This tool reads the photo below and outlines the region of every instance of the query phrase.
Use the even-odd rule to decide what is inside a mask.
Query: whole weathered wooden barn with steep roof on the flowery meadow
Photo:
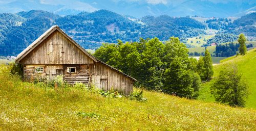
[[[62,75],[70,84],[94,84],[103,90],[133,92],[133,77],[96,59],[63,32],[51,27],[20,53],[16,60],[24,66],[24,79],[52,79]]]

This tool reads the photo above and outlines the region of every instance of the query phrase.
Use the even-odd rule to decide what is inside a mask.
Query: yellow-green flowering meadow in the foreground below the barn
[[[147,101],[22,82],[0,66],[0,130],[255,130],[256,110],[144,91]],[[140,90],[135,89],[135,92]]]

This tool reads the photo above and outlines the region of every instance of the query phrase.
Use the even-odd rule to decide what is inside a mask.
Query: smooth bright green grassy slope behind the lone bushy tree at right
[[[246,106],[248,108],[256,109],[256,48],[247,51],[245,56],[233,56],[221,60],[221,64],[214,66],[214,77],[218,76],[221,66],[224,66],[227,63],[238,64],[238,69],[243,74],[249,86],[249,96]],[[199,96],[200,100],[214,101],[214,98],[210,95],[210,84],[211,82],[203,84],[203,88],[201,89]]]

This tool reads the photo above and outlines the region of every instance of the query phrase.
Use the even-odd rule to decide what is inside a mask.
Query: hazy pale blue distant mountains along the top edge
[[[20,11],[46,10],[55,14],[76,15],[82,11],[94,12],[106,9],[118,14],[141,18],[146,15],[160,16],[204,16],[229,17],[242,16],[256,11],[256,1],[213,1],[213,0],[180,0],[180,1],[124,1],[124,0],[64,0],[64,1],[29,1],[19,0],[1,2],[0,13],[17,13]]]

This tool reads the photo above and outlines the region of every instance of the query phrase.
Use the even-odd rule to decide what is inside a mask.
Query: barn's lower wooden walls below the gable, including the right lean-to
[[[76,82],[88,84],[92,82],[96,87],[103,90],[114,89],[126,95],[133,92],[133,80],[131,78],[102,63],[45,65],[43,73],[35,73],[36,66],[38,65],[26,65],[24,67],[26,80],[33,81],[35,78],[39,79],[40,77],[48,77],[51,80],[58,75],[57,69],[62,69],[64,71],[63,80],[70,84],[75,84]],[[76,73],[67,73],[67,67],[76,67]]]

